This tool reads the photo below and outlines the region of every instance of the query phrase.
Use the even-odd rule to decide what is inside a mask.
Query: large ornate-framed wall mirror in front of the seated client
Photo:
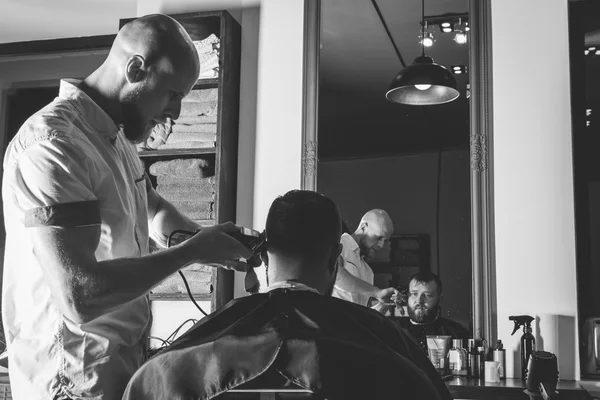
[[[441,315],[492,343],[489,2],[306,4],[304,188],[333,198],[351,231],[385,209],[394,235],[368,260],[376,285],[407,287],[432,271]],[[433,39],[425,54],[451,71],[459,97],[390,102],[392,79],[422,55],[423,31]]]

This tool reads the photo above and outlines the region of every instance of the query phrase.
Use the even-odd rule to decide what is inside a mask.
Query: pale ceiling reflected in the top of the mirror
[[[394,42],[408,65],[420,55],[420,0],[376,0]],[[364,94],[385,93],[402,69],[371,0],[322,0],[320,82],[325,88]],[[426,0],[425,15],[467,13],[469,0]],[[446,67],[468,65],[468,45],[436,28],[436,42],[426,54]],[[464,91],[466,79],[459,77]]]

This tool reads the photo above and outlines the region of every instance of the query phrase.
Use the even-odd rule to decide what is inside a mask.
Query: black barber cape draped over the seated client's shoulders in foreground
[[[417,344],[381,314],[275,289],[199,321],[135,373],[123,399],[212,399],[265,376],[328,400],[452,398]]]

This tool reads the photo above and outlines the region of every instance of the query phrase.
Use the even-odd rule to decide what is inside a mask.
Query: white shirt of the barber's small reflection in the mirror
[[[341,258],[343,260],[343,264],[340,268],[345,268],[350,274],[372,285],[374,281],[373,270],[361,256],[358,243],[356,243],[354,238],[347,233],[342,235],[340,242],[342,243]],[[351,301],[363,306],[366,306],[369,302],[369,296],[342,290],[337,286],[337,283],[334,286],[331,295],[338,299]]]

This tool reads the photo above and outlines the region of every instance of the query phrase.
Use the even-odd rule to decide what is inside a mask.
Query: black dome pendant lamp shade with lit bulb
[[[458,98],[456,79],[431,57],[417,57],[394,78],[385,94],[394,103],[429,106],[449,103]]]

